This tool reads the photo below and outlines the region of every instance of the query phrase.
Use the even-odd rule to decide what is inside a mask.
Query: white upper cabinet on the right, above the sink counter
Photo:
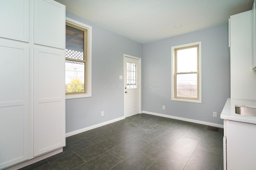
[[[256,100],[256,72],[252,70],[252,12],[230,16],[231,98]]]

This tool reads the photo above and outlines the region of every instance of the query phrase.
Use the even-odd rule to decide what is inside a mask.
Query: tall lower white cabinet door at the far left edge
[[[0,39],[0,169],[28,159],[29,47]]]

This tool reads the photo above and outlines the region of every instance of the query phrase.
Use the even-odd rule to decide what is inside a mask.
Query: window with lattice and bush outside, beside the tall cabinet
[[[66,18],[66,99],[91,96],[92,27]]]

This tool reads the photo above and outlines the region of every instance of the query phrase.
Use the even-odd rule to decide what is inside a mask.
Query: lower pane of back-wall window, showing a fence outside
[[[197,98],[197,73],[176,75],[177,97]]]

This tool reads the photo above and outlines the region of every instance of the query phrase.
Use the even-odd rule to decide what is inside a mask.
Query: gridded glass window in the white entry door
[[[137,64],[127,63],[127,89],[136,89],[137,82]]]

